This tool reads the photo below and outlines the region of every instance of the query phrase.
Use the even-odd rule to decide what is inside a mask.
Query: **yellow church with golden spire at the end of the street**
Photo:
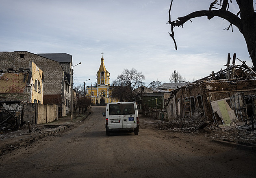
[[[105,68],[103,54],[100,61],[100,68],[96,74],[97,85],[91,85],[91,87],[87,86],[86,95],[91,97],[91,102],[93,105],[103,105],[105,103],[118,102],[117,99],[111,97],[111,91],[109,90],[110,73]]]

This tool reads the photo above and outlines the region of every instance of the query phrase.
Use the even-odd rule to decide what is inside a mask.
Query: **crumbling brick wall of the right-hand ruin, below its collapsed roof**
[[[201,83],[195,83],[193,85],[188,85],[180,89],[175,90],[175,103],[176,103],[176,113],[180,107],[180,117],[189,117],[192,119],[201,119],[203,116],[207,118],[208,121],[214,121],[213,109],[210,102],[222,100],[225,98],[230,98],[232,95],[235,96],[236,93],[242,93],[243,97],[255,96],[256,95],[256,80],[243,80],[243,81],[228,81],[228,80],[216,80],[216,81],[202,81]],[[249,106],[245,108],[244,101],[241,97],[234,99],[236,103],[241,101],[239,106],[243,105],[243,108],[237,112],[235,110],[236,117],[239,119],[245,118],[248,114],[245,114],[246,110],[249,110]],[[256,100],[256,98],[254,98]],[[169,105],[173,102],[169,102]],[[234,106],[234,103],[228,102],[230,108],[238,109],[238,106]],[[253,104],[250,105],[254,108]],[[168,106],[170,107],[170,106]],[[237,113],[236,113],[237,112]],[[248,112],[248,111],[246,111]],[[178,115],[178,114],[177,114]],[[242,117],[240,116],[242,115]],[[168,117],[170,116],[170,111],[168,111]]]

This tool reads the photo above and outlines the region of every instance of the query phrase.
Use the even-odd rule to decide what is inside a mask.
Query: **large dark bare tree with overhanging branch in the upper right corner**
[[[233,14],[229,9],[229,0],[214,0],[208,10],[195,11],[190,13],[189,15],[178,17],[177,20],[171,21],[171,6],[173,0],[171,0],[171,5],[169,8],[169,21],[168,23],[171,25],[171,33],[169,35],[174,40],[175,49],[177,50],[177,44],[174,39],[174,27],[182,26],[188,20],[195,17],[207,16],[210,20],[213,17],[221,17],[228,22],[230,25],[228,28],[224,30],[229,30],[230,27],[233,31],[233,26],[235,25],[243,37],[245,38],[245,42],[247,44],[247,50],[249,52],[250,58],[252,59],[252,64],[254,65],[254,70],[256,68],[256,13],[254,12],[253,0],[236,0],[236,3],[239,6],[239,12],[237,14]],[[232,3],[232,0],[230,0]],[[216,7],[218,6],[218,7]]]

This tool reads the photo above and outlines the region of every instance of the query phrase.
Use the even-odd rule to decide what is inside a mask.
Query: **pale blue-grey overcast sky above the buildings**
[[[178,51],[167,25],[171,0],[0,0],[0,51],[68,53],[74,84],[95,83],[100,59],[111,82],[124,68],[135,68],[152,81],[169,82],[174,70],[187,81],[217,72],[228,53],[252,66],[239,30],[223,30],[219,17],[192,19],[174,28]],[[174,0],[171,20],[207,10],[213,0]],[[255,4],[255,3],[254,3]],[[230,11],[239,11],[235,1]],[[241,62],[236,61],[236,64]]]

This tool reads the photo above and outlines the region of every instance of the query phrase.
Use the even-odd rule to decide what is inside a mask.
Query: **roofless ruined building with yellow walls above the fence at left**
[[[0,71],[0,101],[43,104],[43,71],[29,61],[29,68]]]

